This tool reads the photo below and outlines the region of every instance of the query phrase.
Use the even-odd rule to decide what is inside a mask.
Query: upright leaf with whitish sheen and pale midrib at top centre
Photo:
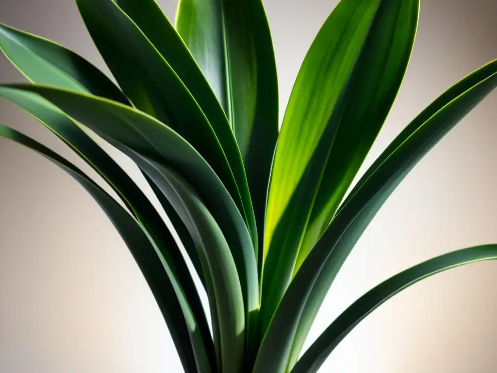
[[[180,0],[176,29],[232,124],[247,171],[261,251],[278,136],[276,64],[262,1]]]

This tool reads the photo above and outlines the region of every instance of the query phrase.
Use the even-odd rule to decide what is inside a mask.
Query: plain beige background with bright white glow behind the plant
[[[175,1],[160,0],[169,17]],[[298,67],[336,4],[265,0],[281,110]],[[74,1],[1,0],[0,21],[56,40],[104,69]],[[431,100],[497,58],[497,1],[423,0],[413,58],[366,164]],[[0,81],[22,81],[0,58]],[[3,124],[88,170],[4,102]],[[414,169],[358,243],[310,341],[351,301],[419,261],[497,242],[497,92]],[[181,372],[139,270],[93,200],[55,166],[0,140],[0,372]],[[93,175],[92,173],[90,173]],[[337,348],[323,372],[497,372],[497,263],[414,285]],[[309,341],[309,342],[310,342]]]

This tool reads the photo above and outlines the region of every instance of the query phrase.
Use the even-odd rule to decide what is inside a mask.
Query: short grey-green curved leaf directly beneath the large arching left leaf
[[[218,369],[227,373],[241,371],[245,347],[245,310],[242,287],[228,243],[195,191],[173,170],[136,155],[137,164],[161,189],[188,228],[207,281],[213,325],[219,328]]]

